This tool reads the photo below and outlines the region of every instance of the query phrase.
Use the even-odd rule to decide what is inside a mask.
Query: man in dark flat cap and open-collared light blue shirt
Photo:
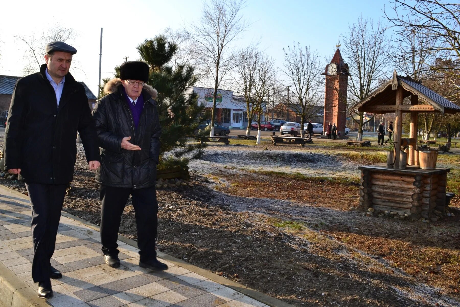
[[[40,72],[16,83],[5,130],[5,169],[25,182],[32,205],[32,279],[44,298],[53,295],[50,278],[62,277],[50,259],[65,190],[74,174],[77,131],[89,169],[100,165],[85,88],[69,74],[76,52],[62,41],[46,45]]]

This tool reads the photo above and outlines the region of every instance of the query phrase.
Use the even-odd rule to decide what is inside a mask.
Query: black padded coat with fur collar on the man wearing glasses
[[[161,136],[156,90],[148,85],[142,89],[144,109],[137,129],[121,80],[110,80],[104,91],[108,95],[101,98],[93,110],[99,147],[102,148],[102,163],[96,171],[96,181],[103,185],[133,189],[155,185]],[[121,140],[129,136],[129,141],[138,145],[140,151],[121,148]]]

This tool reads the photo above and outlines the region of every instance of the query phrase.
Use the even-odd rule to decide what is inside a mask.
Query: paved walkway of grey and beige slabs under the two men
[[[4,265],[2,267],[13,272],[33,290],[37,290],[38,284],[32,281],[30,272],[33,258],[30,214],[27,198],[0,186],[0,261]],[[98,230],[78,219],[61,216],[56,251],[51,264],[63,273],[63,278],[52,279],[54,297],[47,302],[54,307],[268,306],[193,272],[195,266],[184,265],[188,267],[185,268],[179,265],[180,261],[163,260],[169,266],[167,271],[150,272],[138,266],[139,255],[135,246],[122,241],[118,244],[121,251],[121,267],[115,269],[104,263]],[[0,277],[1,275],[6,274],[0,274]],[[242,286],[242,289],[244,288],[246,287]],[[28,293],[30,294],[30,291]],[[277,300],[266,295],[259,295],[274,300],[275,303],[270,303],[271,306],[287,306],[281,301],[278,301],[281,304],[276,304]],[[14,304],[9,306],[12,305]]]

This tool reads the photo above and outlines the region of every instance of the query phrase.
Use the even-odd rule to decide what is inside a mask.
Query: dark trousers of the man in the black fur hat
[[[100,185],[101,197],[101,243],[104,255],[118,255],[118,228],[121,214],[131,195],[136,213],[140,261],[155,259],[155,238],[158,224],[158,203],[155,187],[133,190]]]

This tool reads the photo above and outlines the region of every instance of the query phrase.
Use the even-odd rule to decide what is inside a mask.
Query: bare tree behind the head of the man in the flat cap
[[[24,67],[24,73],[32,74],[40,70],[40,66],[43,64],[43,57],[46,54],[46,44],[51,41],[74,41],[76,36],[74,29],[64,28],[59,23],[44,30],[40,35],[35,33],[31,35],[16,35],[15,37],[26,46],[24,59],[27,61],[27,64]]]

